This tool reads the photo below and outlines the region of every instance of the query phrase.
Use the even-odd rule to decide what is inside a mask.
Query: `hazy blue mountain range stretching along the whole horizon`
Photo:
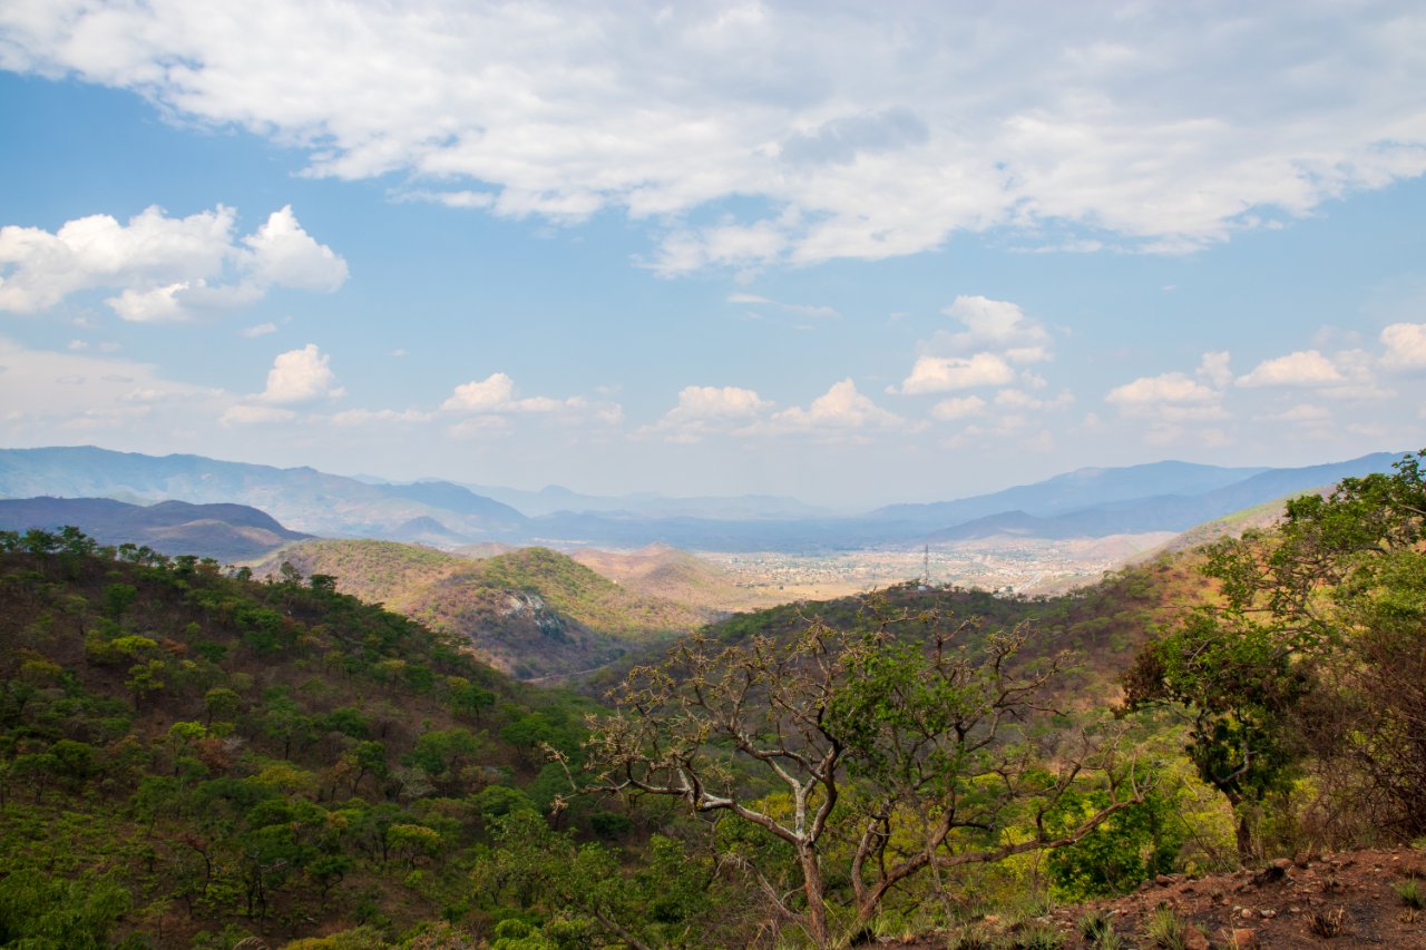
[[[235,502],[314,535],[385,538],[451,549],[472,543],[565,548],[667,543],[694,551],[817,551],[961,543],[994,536],[1060,539],[1176,532],[1345,476],[1387,471],[1397,458],[1380,452],[1302,468],[1221,468],[1172,461],[1087,468],[958,501],[830,516],[780,498],[612,499],[559,488],[482,489],[501,492],[509,501],[523,499],[529,511],[522,512],[455,482],[388,484],[311,468],[281,469],[197,455],[158,458],[84,446],[0,449],[0,496]],[[576,509],[566,504],[590,506]],[[550,511],[555,506],[559,509]]]

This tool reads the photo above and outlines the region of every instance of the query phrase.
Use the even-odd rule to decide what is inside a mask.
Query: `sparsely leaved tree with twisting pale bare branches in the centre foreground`
[[[907,626],[918,635],[893,636]],[[1038,729],[1064,658],[1021,666],[1024,629],[971,632],[901,615],[860,633],[813,619],[784,642],[690,638],[666,662],[629,673],[612,693],[616,715],[592,719],[595,785],[679,797],[786,842],[800,907],[796,890],[779,894],[749,870],[813,943],[840,946],[923,872],[1070,844],[1144,799],[1122,732]],[[1065,793],[1091,787],[1108,793],[1108,806],[1054,833],[1062,826],[1047,817]],[[837,869],[850,889],[826,884],[831,853],[850,854]],[[829,906],[846,909],[850,929],[833,933]]]

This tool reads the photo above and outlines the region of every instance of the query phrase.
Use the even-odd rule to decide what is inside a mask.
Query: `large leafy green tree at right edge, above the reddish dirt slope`
[[[1349,766],[1373,823],[1426,832],[1423,458],[1211,545],[1204,571],[1222,602],[1181,618],[1125,675],[1131,706],[1188,708],[1189,756],[1238,810],[1245,860],[1251,813],[1309,759]]]

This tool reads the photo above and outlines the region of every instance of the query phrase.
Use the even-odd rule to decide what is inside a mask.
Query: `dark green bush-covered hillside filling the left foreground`
[[[472,863],[553,802],[536,745],[578,753],[583,700],[322,579],[44,538],[0,545],[0,944],[479,926]]]

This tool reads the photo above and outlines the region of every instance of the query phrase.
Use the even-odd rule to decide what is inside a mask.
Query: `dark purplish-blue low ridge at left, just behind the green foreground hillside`
[[[83,528],[103,545],[130,542],[160,553],[224,562],[261,558],[279,545],[311,538],[248,505],[165,501],[143,506],[110,498],[43,496],[0,501],[0,531],[54,531],[64,525]]]

